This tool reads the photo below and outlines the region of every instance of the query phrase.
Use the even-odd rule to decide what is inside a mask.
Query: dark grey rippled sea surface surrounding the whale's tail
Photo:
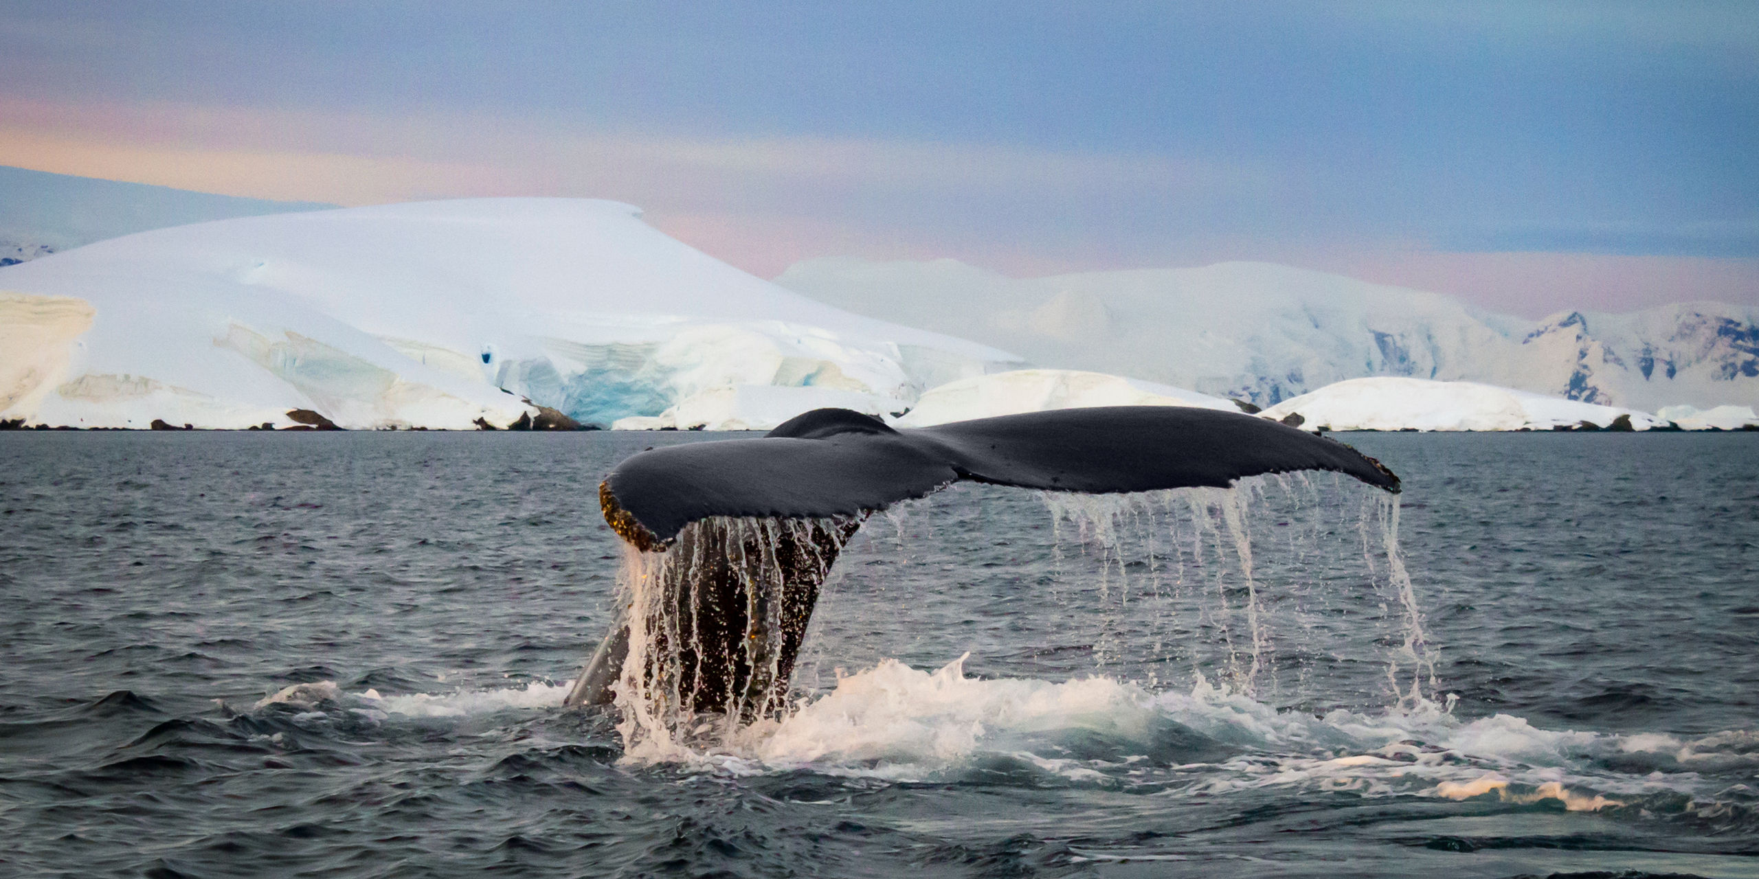
[[[0,874],[1759,875],[1755,434],[955,487],[668,751],[561,700],[598,480],[700,440],[0,434]]]

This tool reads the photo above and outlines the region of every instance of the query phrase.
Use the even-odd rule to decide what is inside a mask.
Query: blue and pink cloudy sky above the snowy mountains
[[[1270,260],[1759,304],[1759,4],[16,2],[0,163],[600,197],[776,276]]]

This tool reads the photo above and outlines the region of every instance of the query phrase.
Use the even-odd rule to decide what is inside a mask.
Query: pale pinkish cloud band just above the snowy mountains
[[[772,278],[830,255],[952,257],[1013,276],[1266,260],[1458,295],[1493,311],[1759,304],[1759,260],[1594,253],[1446,253],[1409,241],[1279,243],[1094,232],[1082,211],[1179,206],[1274,186],[1252,165],[1010,146],[821,137],[690,139],[580,132],[529,120],[383,118],[183,104],[42,104],[0,97],[0,163],[250,195],[375,204],[477,195],[616,199],[658,229]],[[1010,200],[1018,197],[1018,200]],[[1003,222],[941,216],[989,199]],[[1011,211],[1011,213],[1010,213]],[[1073,211],[1052,218],[1033,211]],[[1027,216],[1027,220],[1020,220]],[[994,218],[992,218],[994,220]],[[1017,232],[1029,232],[1031,239]],[[1115,229],[1115,227],[1113,227]],[[1342,232],[1340,232],[1342,234]]]

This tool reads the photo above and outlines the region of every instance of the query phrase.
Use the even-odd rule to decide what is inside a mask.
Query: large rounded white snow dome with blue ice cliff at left
[[[220,220],[0,269],[0,417],[74,427],[493,425],[904,411],[1018,359],[792,294],[626,204],[471,199]],[[783,415],[783,417],[786,417]],[[734,424],[707,424],[709,427]],[[695,424],[679,424],[691,427]]]

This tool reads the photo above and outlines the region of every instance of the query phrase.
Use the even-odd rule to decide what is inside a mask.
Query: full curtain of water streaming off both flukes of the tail
[[[966,652],[982,677],[1224,686],[1303,710],[1434,694],[1397,498],[1332,475],[1117,496],[955,485],[850,541],[855,524],[711,519],[663,554],[626,552],[631,758],[734,747],[741,723],[846,673]],[[704,693],[726,710],[700,712]]]

